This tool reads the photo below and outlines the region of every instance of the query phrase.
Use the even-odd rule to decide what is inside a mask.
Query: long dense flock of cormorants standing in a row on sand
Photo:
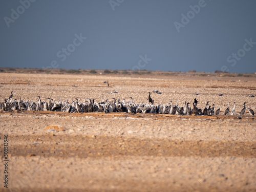
[[[126,102],[125,99],[120,101],[120,99],[113,98],[113,101],[109,99],[102,100],[101,102],[96,102],[94,99],[84,99],[84,102],[79,102],[78,98],[73,100],[70,103],[68,100],[61,101],[59,98],[58,101],[54,101],[51,98],[47,98],[49,101],[41,100],[38,96],[37,102],[23,101],[21,97],[19,99],[13,98],[13,92],[9,99],[5,99],[4,102],[1,102],[0,96],[0,110],[3,111],[57,111],[57,112],[69,112],[69,113],[88,113],[88,112],[103,112],[103,113],[112,113],[112,112],[126,112],[126,113],[154,113],[154,114],[172,114],[172,115],[219,115],[220,108],[215,110],[215,104],[209,105],[209,101],[206,103],[204,110],[198,109],[198,101],[195,98],[193,106],[189,106],[189,102],[185,101],[183,106],[177,104],[174,105],[173,101],[168,102],[167,104],[156,104],[154,105],[154,100],[151,98],[151,92],[148,92],[148,99],[146,103],[136,103],[133,98]],[[245,106],[241,110],[240,115],[244,115],[245,111],[248,110],[250,115],[254,115],[254,111]],[[225,110],[224,115],[236,115],[236,102],[234,102],[233,109],[230,112],[230,106],[228,103],[228,108]]]

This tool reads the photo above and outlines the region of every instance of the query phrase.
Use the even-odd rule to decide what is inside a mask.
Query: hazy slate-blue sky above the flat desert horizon
[[[255,10],[255,0],[1,1],[0,67],[254,73]]]

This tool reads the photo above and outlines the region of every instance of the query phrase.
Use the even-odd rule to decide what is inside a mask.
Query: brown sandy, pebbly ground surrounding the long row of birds
[[[139,103],[159,90],[162,95],[152,94],[156,103],[181,106],[197,98],[199,108],[210,101],[222,110],[207,117],[2,112],[0,176],[8,134],[9,190],[1,182],[0,191],[256,191],[256,121],[248,113],[223,116],[233,101],[237,112],[243,102],[256,111],[256,98],[249,97],[256,95],[255,78],[1,73],[0,83],[1,101],[14,91],[30,101],[40,95]],[[55,124],[66,131],[45,130]]]

